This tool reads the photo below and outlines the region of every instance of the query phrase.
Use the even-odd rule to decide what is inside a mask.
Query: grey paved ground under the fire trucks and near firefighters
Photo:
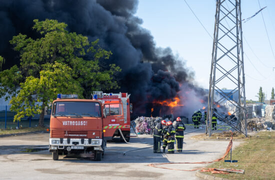
[[[186,132],[193,130],[187,128]],[[146,143],[107,143],[102,161],[87,158],[59,156],[53,161],[48,152],[48,133],[29,134],[0,138],[0,179],[200,179],[195,171],[168,170],[149,167],[156,162],[198,162],[211,161],[223,155],[228,141],[192,140],[189,137],[204,130],[185,135],[183,151],[175,154],[152,153],[146,148],[126,153],[138,147],[151,146],[150,135],[140,135]],[[130,142],[139,142],[131,138]],[[233,141],[233,146],[240,142]],[[36,152],[27,152],[37,149]],[[168,164],[171,168],[193,169],[205,164]]]

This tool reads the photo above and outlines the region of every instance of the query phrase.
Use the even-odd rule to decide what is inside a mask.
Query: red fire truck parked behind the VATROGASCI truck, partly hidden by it
[[[103,93],[93,91],[94,95],[102,102],[106,118],[103,118],[104,139],[111,140],[119,136],[123,141],[118,129],[120,128],[126,141],[130,140],[130,113],[132,104],[129,103],[130,94],[127,93]]]

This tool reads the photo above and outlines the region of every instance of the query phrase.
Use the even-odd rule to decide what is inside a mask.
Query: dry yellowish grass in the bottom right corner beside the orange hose
[[[238,160],[238,162],[219,161],[207,167],[244,169],[244,174],[211,174],[217,177],[229,179],[275,179],[274,142],[274,131],[260,131],[256,135],[250,136],[232,151],[232,160]],[[230,159],[230,156],[227,159]],[[204,173],[210,174],[210,172]]]

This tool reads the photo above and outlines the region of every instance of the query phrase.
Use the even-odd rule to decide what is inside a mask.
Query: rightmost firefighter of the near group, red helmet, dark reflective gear
[[[183,130],[185,129],[184,124],[181,122],[181,118],[177,117],[176,118],[176,123],[175,123],[175,143],[176,143],[176,151],[177,152],[182,152],[182,146],[183,146]]]

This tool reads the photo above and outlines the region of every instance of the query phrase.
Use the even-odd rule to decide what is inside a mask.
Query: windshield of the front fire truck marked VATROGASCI
[[[101,110],[98,102],[62,101],[53,103],[52,115],[100,117]]]

